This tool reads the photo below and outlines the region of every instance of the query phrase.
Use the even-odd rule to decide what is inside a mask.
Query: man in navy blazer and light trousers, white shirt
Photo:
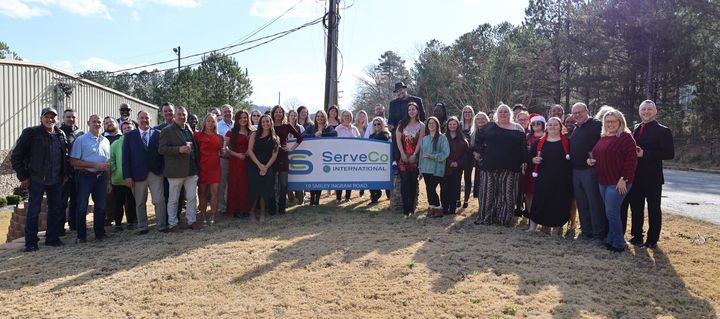
[[[155,223],[159,231],[167,231],[165,191],[163,190],[163,158],[158,153],[160,131],[150,127],[150,114],[138,112],[138,128],[123,139],[122,166],[125,186],[135,197],[138,234],[148,233],[147,193],[150,188],[155,206]]]

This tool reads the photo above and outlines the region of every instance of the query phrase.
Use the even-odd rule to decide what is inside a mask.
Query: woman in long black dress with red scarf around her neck
[[[530,208],[529,232],[542,225],[554,227],[555,233],[560,235],[562,226],[570,219],[572,165],[568,139],[561,133],[561,123],[557,117],[550,118],[545,135],[530,148],[535,196]]]

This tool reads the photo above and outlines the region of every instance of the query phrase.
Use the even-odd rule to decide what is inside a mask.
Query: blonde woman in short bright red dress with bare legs
[[[200,123],[200,130],[195,132],[194,135],[200,152],[198,173],[200,217],[204,223],[207,223],[207,190],[208,186],[210,186],[210,224],[214,224],[215,213],[217,213],[218,187],[220,185],[220,152],[223,149],[223,137],[217,133],[215,115],[205,115],[205,118]]]

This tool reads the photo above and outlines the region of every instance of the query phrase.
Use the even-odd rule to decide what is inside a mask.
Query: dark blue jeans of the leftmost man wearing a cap
[[[43,194],[47,193],[48,211],[47,211],[47,231],[45,232],[45,242],[59,242],[60,223],[62,216],[62,182],[53,185],[45,185],[36,181],[30,181],[28,190],[28,207],[25,212],[25,246],[37,245],[40,240],[38,238],[38,218],[40,217],[40,206],[42,205]]]

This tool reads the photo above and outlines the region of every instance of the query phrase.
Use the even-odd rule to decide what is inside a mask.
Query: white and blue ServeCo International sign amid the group
[[[390,142],[306,138],[289,154],[289,190],[391,189]]]

